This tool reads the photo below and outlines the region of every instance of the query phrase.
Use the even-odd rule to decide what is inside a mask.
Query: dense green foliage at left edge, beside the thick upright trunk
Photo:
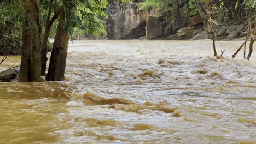
[[[0,55],[21,52],[21,5],[16,1],[0,3]]]

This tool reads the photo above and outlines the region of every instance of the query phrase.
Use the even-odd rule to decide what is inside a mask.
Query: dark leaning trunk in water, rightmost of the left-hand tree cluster
[[[50,65],[46,80],[62,81],[64,79],[69,35],[63,28],[65,22],[65,8],[60,10],[59,24],[54,39],[53,52],[51,53]]]

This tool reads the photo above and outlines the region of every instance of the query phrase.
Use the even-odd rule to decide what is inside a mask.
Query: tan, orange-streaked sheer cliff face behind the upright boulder
[[[146,24],[150,16],[158,19],[159,10],[140,11],[139,1],[133,1],[125,7],[120,7],[117,2],[110,3],[106,13],[107,39],[138,39],[146,35]],[[159,23],[157,20],[156,22]]]

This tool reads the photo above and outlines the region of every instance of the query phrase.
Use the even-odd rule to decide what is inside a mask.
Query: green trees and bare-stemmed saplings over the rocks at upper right
[[[184,10],[184,7],[186,10]],[[212,34],[213,39],[213,51],[214,56],[217,56],[216,51],[216,37],[217,35],[222,35],[226,31],[226,28],[223,28],[223,32],[218,33],[219,25],[224,25],[225,22],[228,21],[244,21],[245,19],[248,20],[248,35],[246,38],[246,41],[251,38],[251,43],[249,47],[249,53],[247,56],[247,59],[251,57],[252,50],[253,50],[253,43],[255,41],[254,38],[254,31],[255,31],[255,21],[256,21],[256,1],[254,0],[246,0],[246,1],[240,1],[240,0],[183,0],[183,1],[166,1],[166,0],[146,0],[142,3],[139,3],[139,8],[141,10],[150,10],[152,8],[161,8],[164,13],[167,13],[166,19],[170,19],[173,31],[179,32],[174,39],[177,37],[185,35],[188,33],[188,29],[193,29],[193,27],[183,27],[179,29],[175,29],[177,25],[176,19],[179,18],[178,16],[183,15],[199,15],[202,22],[203,22],[203,29],[205,29],[210,34]],[[168,15],[170,14],[170,15]],[[254,23],[254,26],[252,27],[251,23]],[[191,25],[190,25],[191,26]],[[234,38],[238,35],[237,31],[241,31],[243,29],[244,25],[240,25],[240,28],[236,28],[236,26],[231,27],[229,29],[236,29],[236,31],[230,30],[229,35],[227,38]],[[184,30],[186,29],[186,30]],[[234,30],[235,30],[234,29]],[[184,32],[187,31],[187,33],[184,34]],[[227,30],[228,31],[228,30]],[[194,33],[194,32],[193,32]],[[198,37],[198,36],[197,36]],[[173,38],[171,38],[173,39]],[[194,38],[193,38],[194,39]],[[246,41],[242,46],[245,46],[244,49],[244,58],[246,58]],[[241,46],[241,47],[242,47]],[[238,51],[234,54],[233,57],[241,50],[238,49]]]

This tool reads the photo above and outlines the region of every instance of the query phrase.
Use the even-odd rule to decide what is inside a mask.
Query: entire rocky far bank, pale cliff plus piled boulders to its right
[[[190,14],[188,3],[184,3],[176,14],[162,13],[161,9],[149,11],[139,10],[135,0],[125,7],[117,2],[110,3],[106,13],[106,39],[210,39],[212,34],[203,29],[203,22],[199,15]],[[243,37],[248,32],[248,25],[243,23],[246,19],[236,22],[229,21],[217,27],[217,39],[234,39]]]

